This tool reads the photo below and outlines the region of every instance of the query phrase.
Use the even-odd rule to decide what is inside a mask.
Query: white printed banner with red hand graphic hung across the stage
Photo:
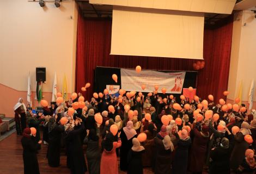
[[[153,92],[155,85],[159,86],[158,92],[166,88],[166,93],[181,94],[186,72],[159,72],[143,70],[121,69],[121,88],[126,91]],[[142,89],[145,85],[145,89]]]

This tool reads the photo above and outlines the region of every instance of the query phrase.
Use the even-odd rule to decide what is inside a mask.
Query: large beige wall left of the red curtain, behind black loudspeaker
[[[46,67],[43,96],[51,101],[54,72],[62,90],[64,74],[68,92],[75,89],[77,6],[66,0],[56,8],[46,2],[0,1],[0,113],[13,116],[17,98],[26,101],[28,73],[36,89],[35,67]],[[32,92],[33,104],[35,94]],[[26,102],[25,102],[26,103]]]

